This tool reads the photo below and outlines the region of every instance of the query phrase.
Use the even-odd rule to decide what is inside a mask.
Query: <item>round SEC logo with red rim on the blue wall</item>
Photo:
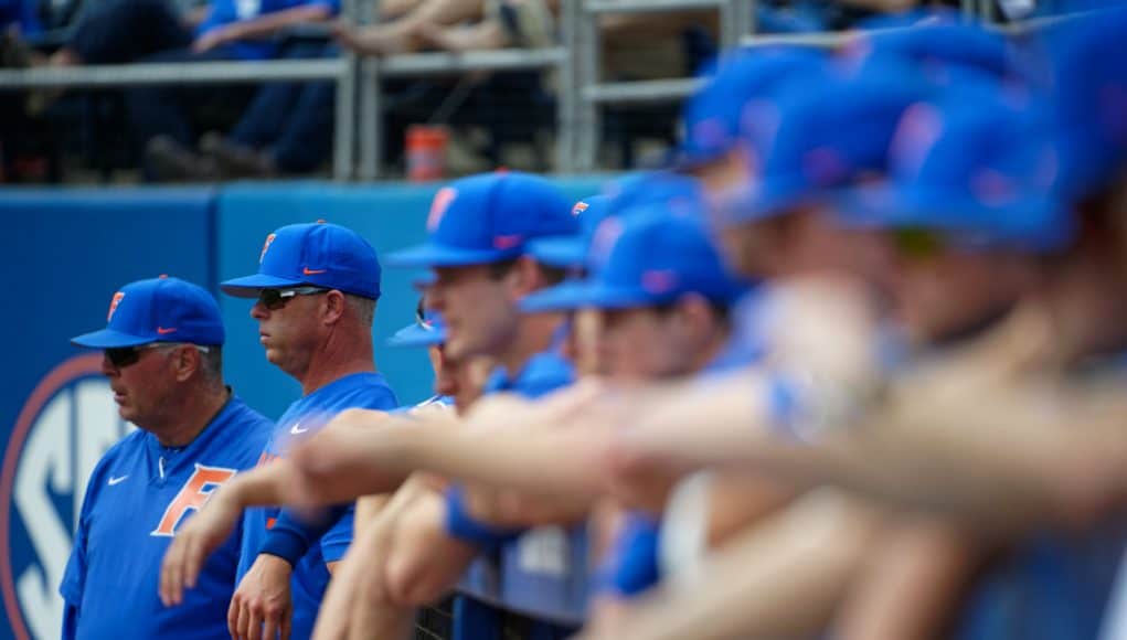
[[[59,595],[90,472],[132,430],[117,415],[101,354],[70,358],[32,391],[0,474],[0,587],[16,638],[57,638]]]

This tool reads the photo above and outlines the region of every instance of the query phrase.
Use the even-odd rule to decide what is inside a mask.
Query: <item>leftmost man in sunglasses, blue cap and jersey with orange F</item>
[[[223,338],[211,294],[161,276],[122,287],[108,326],[72,339],[104,350],[118,412],[140,430],[90,475],[60,586],[62,638],[227,635],[238,532],[221,541],[184,606],[165,608],[157,598],[161,558],[185,519],[252,468],[270,434],[269,420],[223,383]]]

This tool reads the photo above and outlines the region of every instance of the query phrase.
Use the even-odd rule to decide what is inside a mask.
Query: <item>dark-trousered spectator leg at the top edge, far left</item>
[[[117,64],[190,44],[192,32],[168,1],[109,0],[79,19],[74,36],[53,63]]]

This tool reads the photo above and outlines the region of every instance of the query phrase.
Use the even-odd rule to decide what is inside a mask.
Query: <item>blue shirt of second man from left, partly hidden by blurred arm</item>
[[[345,409],[391,410],[398,405],[396,394],[379,373],[355,373],[326,384],[294,401],[278,418],[277,428],[261,451],[260,464],[284,456],[293,437],[323,427]],[[239,579],[247,574],[259,552],[285,549],[296,554],[291,579],[293,594],[293,638],[308,638],[313,631],[317,611],[329,584],[327,562],[340,560],[353,536],[353,508],[334,512],[334,524],[307,524],[285,509],[258,507],[247,509],[242,524],[239,557]],[[320,535],[322,532],[323,535]],[[312,543],[311,543],[312,542]],[[293,558],[287,558],[293,559]]]

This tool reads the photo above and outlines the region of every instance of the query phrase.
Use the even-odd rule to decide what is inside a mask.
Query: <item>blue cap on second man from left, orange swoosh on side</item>
[[[228,295],[257,297],[263,288],[312,285],[380,297],[380,259],[367,240],[326,222],[290,224],[266,237],[258,273],[220,284]]]

